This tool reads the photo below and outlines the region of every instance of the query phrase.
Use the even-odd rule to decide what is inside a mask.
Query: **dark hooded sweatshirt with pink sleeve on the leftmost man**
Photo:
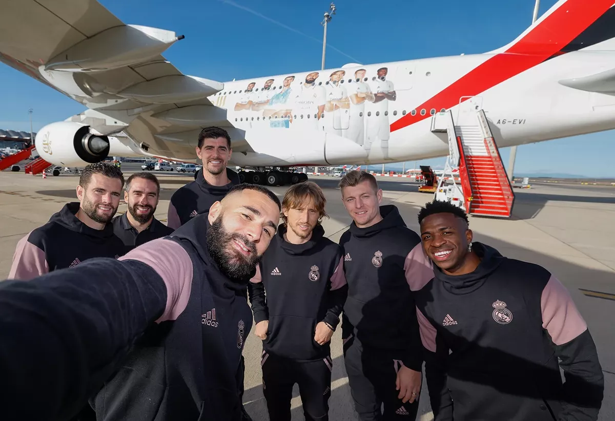
[[[23,237],[17,243],[9,278],[30,280],[87,259],[124,254],[124,243],[114,235],[113,224],[101,230],[90,228],[77,218],[78,210],[79,202],[66,203],[47,224]]]

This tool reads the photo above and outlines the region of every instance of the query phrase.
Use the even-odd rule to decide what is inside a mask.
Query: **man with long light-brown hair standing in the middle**
[[[284,220],[248,284],[255,334],[263,339],[263,393],[270,421],[290,421],[299,385],[305,419],[328,420],[330,340],[346,299],[339,245],[324,236],[320,187],[307,181],[282,200]]]

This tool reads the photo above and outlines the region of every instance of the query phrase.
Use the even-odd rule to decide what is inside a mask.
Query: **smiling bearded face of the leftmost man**
[[[85,186],[77,186],[77,198],[81,202],[81,210],[100,224],[106,224],[113,219],[119,207],[122,181],[102,174],[92,174],[90,182]]]

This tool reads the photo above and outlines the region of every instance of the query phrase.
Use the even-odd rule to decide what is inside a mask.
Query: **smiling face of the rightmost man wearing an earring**
[[[452,274],[466,261],[472,230],[466,221],[452,213],[434,213],[421,221],[421,240],[427,256],[440,269]]]

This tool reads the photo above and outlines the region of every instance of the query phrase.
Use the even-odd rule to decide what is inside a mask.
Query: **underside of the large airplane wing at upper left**
[[[208,100],[224,84],[185,75],[161,55],[183,36],[125,25],[96,0],[0,0],[0,10],[0,61],[88,108],[67,122],[125,133],[143,155],[194,160],[207,125],[227,128],[234,151],[251,151]]]

